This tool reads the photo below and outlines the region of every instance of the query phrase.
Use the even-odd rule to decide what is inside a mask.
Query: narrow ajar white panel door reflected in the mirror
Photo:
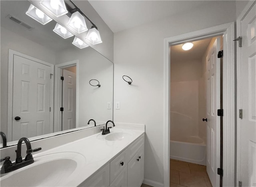
[[[63,70],[62,130],[76,128],[76,74]]]

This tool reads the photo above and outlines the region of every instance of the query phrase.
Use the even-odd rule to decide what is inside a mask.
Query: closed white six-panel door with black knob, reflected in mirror
[[[12,141],[50,133],[50,73],[50,66],[14,55]]]

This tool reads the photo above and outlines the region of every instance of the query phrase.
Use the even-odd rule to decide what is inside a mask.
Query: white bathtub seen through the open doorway
[[[170,158],[200,165],[206,165],[206,144],[197,136],[172,137]]]

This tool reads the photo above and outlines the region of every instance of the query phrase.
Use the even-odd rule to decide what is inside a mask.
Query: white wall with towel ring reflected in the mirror
[[[79,60],[76,69],[78,127],[87,125],[89,119],[94,119],[97,125],[112,120],[112,109],[107,109],[107,102],[111,102],[113,106],[114,64],[89,47],[82,50],[63,50],[57,53],[56,59],[56,64]],[[90,86],[89,81],[92,79],[100,82],[100,88]]]

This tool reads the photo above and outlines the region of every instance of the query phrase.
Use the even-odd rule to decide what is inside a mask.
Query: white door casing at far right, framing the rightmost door
[[[252,6],[256,4],[256,1],[249,1],[245,6],[244,10],[242,10],[241,14],[238,16],[236,20],[236,34],[237,36],[241,36],[242,28],[241,21],[245,18],[248,12],[251,10]],[[242,55],[241,48],[236,48],[236,77],[237,77],[237,86],[236,86],[236,181],[235,185],[238,186],[238,181],[241,181],[242,173],[242,119],[239,118],[239,109],[242,109]]]

